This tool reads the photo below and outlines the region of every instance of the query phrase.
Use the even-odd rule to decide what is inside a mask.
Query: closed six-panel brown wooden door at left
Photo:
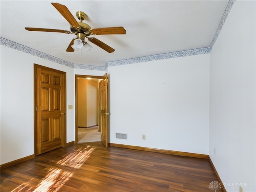
[[[36,66],[36,154],[65,146],[66,73]]]

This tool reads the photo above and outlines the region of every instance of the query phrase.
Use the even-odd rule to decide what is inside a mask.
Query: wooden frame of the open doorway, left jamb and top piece
[[[104,76],[93,76],[93,75],[75,75],[75,142],[74,143],[77,143],[78,142],[78,127],[77,127],[77,122],[78,122],[78,110],[77,110],[77,106],[78,106],[78,103],[77,103],[77,97],[78,97],[78,94],[77,94],[77,79],[78,78],[92,78],[92,79],[105,79]]]

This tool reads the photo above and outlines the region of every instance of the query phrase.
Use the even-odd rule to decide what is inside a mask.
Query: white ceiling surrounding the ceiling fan
[[[52,6],[52,1],[0,1],[0,36],[73,64],[105,66],[107,62],[209,47],[228,0],[164,1],[58,1],[76,18],[92,28],[123,26],[125,35],[95,38],[115,49],[108,53],[98,46],[88,52],[66,52],[74,34],[31,32],[24,27],[70,31],[70,24]]]

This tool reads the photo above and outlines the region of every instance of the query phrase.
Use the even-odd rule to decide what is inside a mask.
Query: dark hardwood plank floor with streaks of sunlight
[[[1,192],[212,192],[208,159],[72,144],[1,170]],[[218,190],[220,191],[220,190]]]

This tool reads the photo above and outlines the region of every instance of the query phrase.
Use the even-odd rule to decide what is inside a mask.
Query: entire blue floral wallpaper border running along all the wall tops
[[[45,54],[43,52],[34,50],[32,48],[26,47],[24,45],[18,44],[16,42],[12,42],[10,40],[4,39],[2,37],[0,37],[0,42],[1,42],[1,45],[3,45],[3,46],[13,48],[13,49],[16,49],[16,50],[19,50],[19,51],[22,51],[22,52],[28,53],[30,55],[46,59],[46,60],[49,60],[52,62],[55,62],[58,64],[62,64],[64,66],[68,66],[70,68],[85,69],[85,70],[99,70],[99,71],[105,71],[106,68],[108,68],[108,66],[118,66],[118,65],[125,65],[125,64],[139,63],[139,62],[148,62],[148,61],[153,61],[153,60],[163,60],[163,59],[169,59],[169,58],[207,54],[207,53],[210,53],[210,50],[214,46],[214,43],[216,42],[216,39],[218,38],[220,30],[222,29],[222,27],[226,21],[226,18],[228,17],[228,14],[229,14],[235,1],[236,0],[230,0],[228,2],[228,5],[227,5],[226,10],[222,16],[222,19],[220,21],[218,29],[214,35],[214,38],[212,39],[210,47],[198,48],[198,49],[186,50],[186,51],[179,51],[179,52],[172,52],[172,53],[165,53],[165,54],[158,54],[158,55],[152,55],[152,56],[145,56],[145,57],[140,57],[140,58],[132,58],[132,59],[126,59],[126,60],[120,60],[120,61],[112,61],[112,62],[107,62],[105,67],[73,64],[68,61],[56,58],[54,56]]]

